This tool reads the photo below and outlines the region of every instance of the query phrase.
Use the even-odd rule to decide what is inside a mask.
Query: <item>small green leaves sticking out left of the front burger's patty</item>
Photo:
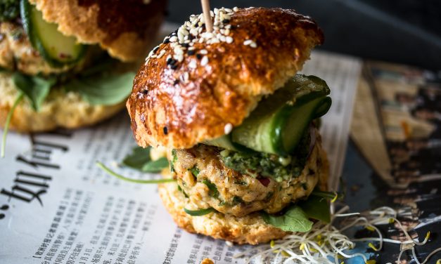
[[[131,154],[128,154],[122,160],[122,164],[132,169],[143,172],[160,172],[167,168],[168,160],[166,157],[152,161],[150,158],[151,147],[134,147]]]

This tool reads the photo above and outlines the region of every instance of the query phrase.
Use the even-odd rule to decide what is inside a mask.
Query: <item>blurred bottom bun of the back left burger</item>
[[[18,96],[11,73],[0,72],[0,95],[0,127],[4,127],[8,112]],[[9,128],[20,132],[39,132],[58,127],[89,126],[112,117],[124,107],[124,103],[90,105],[82,100],[79,93],[51,89],[39,112],[32,109],[26,98],[22,100],[15,108]]]

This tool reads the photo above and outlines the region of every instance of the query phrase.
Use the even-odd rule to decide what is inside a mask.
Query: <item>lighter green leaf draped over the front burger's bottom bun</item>
[[[307,232],[311,230],[313,224],[299,206],[290,206],[281,216],[262,213],[262,217],[265,223],[288,232]]]

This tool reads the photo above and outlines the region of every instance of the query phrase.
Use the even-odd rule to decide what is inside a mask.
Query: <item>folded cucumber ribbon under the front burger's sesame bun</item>
[[[329,93],[325,81],[298,74],[262,100],[250,117],[233,129],[231,140],[258,152],[290,154],[309,123],[328,112]]]

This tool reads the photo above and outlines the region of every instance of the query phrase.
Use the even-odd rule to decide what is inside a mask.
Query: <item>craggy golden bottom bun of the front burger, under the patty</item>
[[[328,159],[326,152],[320,151],[319,187],[326,190],[328,178]],[[168,176],[170,177],[170,176]],[[288,234],[279,228],[264,222],[259,212],[236,217],[224,213],[208,213],[205,216],[190,216],[184,207],[191,208],[190,199],[177,189],[176,183],[159,185],[159,194],[167,211],[175,223],[191,233],[207,235],[216,239],[225,239],[237,244],[260,244],[271,239],[279,239]],[[190,206],[189,206],[190,205]]]

